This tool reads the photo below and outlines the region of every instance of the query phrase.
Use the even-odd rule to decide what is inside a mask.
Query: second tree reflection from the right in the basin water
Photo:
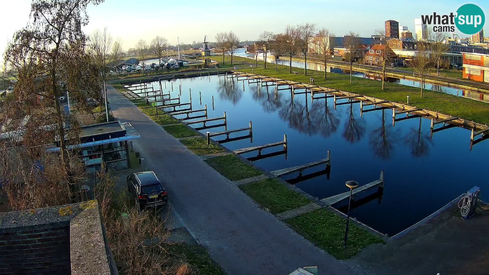
[[[370,145],[374,149],[374,155],[383,160],[391,158],[394,145],[398,142],[399,129],[391,125],[385,125],[385,112],[382,110],[382,124],[370,133]]]

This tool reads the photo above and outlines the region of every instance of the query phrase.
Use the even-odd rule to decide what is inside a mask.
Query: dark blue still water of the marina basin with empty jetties
[[[158,82],[148,84],[159,90]],[[178,97],[181,85],[182,103],[189,102],[191,89],[192,108],[202,109],[207,104],[209,118],[222,117],[226,112],[227,130],[248,127],[251,120],[252,142],[242,139],[223,143],[231,150],[281,141],[287,134],[287,155],[254,161],[267,171],[324,159],[330,150],[329,177],[324,173],[305,181],[295,180],[296,174],[284,177],[319,199],[348,191],[345,182],[349,180],[357,181],[360,186],[376,181],[383,169],[383,192],[373,188],[362,194],[355,201],[351,215],[390,236],[422,220],[474,185],[483,192],[489,187],[485,174],[481,173],[487,166],[481,160],[487,159],[489,141],[476,144],[469,151],[470,131],[466,129],[450,128],[430,138],[430,120],[426,118],[399,121],[393,127],[391,110],[360,116],[358,103],[340,105],[334,110],[332,98],[311,102],[310,94],[296,94],[292,99],[290,90],[279,91],[275,98],[273,86],[260,88],[258,84],[236,78],[225,81],[225,76],[174,79],[162,81],[161,85],[163,92],[169,92],[172,98]],[[220,123],[213,121],[207,125]],[[206,131],[220,132],[224,127],[200,132]],[[247,133],[230,137],[242,135]],[[279,150],[281,147],[265,149],[262,154]],[[256,152],[242,156],[254,157]],[[322,169],[311,168],[304,175]],[[333,207],[346,211],[345,201]]]

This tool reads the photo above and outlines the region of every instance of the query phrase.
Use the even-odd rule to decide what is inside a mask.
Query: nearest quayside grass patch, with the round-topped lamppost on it
[[[346,219],[332,213],[327,208],[299,215],[287,220],[286,223],[314,245],[339,260],[355,256],[356,253],[371,244],[384,243],[379,237],[350,223],[347,248],[343,248]]]

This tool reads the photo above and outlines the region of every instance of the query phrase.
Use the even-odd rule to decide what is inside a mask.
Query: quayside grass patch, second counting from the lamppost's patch
[[[311,203],[311,200],[284,186],[276,179],[239,185],[255,202],[273,214]]]

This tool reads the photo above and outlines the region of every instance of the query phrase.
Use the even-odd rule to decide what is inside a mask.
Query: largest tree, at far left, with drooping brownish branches
[[[34,1],[31,21],[5,49],[4,65],[17,72],[17,83],[0,104],[0,172],[15,209],[69,202],[70,184],[82,178],[71,146],[79,143],[81,128],[60,97],[69,92],[73,109],[87,113],[93,107],[86,98],[101,99],[100,67],[81,30],[90,3],[99,1]]]

